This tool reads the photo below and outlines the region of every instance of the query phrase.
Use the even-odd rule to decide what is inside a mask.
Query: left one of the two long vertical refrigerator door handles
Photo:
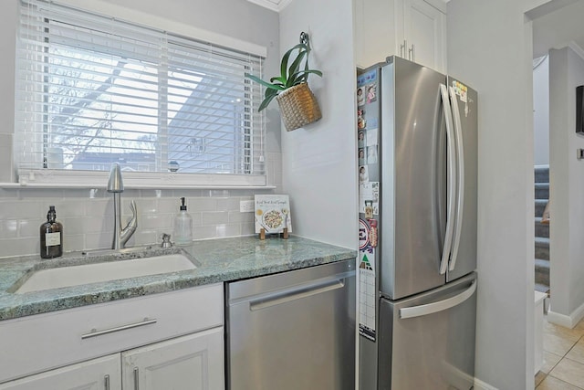
[[[440,260],[440,273],[443,275],[448,268],[448,259],[453,244],[454,236],[454,194],[456,192],[456,163],[455,163],[455,141],[454,125],[452,118],[452,109],[450,99],[448,98],[448,89],[445,85],[440,84],[440,95],[442,96],[444,119],[446,121],[446,140],[448,143],[448,192],[447,192],[447,214],[446,214],[446,234]]]

